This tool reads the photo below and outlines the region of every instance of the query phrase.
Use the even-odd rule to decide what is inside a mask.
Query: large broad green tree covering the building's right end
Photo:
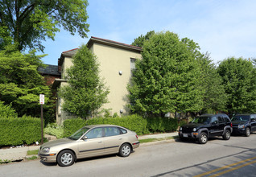
[[[152,35],[142,48],[142,60],[136,62],[127,87],[130,109],[158,116],[167,112],[199,111],[203,93],[198,86],[198,45],[167,31]]]

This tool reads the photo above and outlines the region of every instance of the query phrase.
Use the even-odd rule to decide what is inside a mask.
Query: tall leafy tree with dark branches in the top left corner
[[[89,24],[87,0],[2,0],[0,1],[0,27],[5,27],[19,51],[38,48],[43,51],[42,40],[53,39],[59,27],[72,35],[78,32],[87,37]],[[0,29],[1,33],[1,29]],[[5,34],[0,34],[0,41]]]

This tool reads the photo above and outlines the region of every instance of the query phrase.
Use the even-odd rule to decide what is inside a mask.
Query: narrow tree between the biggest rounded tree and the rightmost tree
[[[215,64],[210,60],[209,53],[199,59],[202,71],[202,88],[204,89],[204,108],[202,113],[225,111],[227,94],[221,76],[217,73]]]

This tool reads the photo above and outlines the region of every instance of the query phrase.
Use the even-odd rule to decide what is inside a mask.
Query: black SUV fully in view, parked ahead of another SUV
[[[226,114],[203,114],[195,117],[188,125],[181,126],[179,136],[182,140],[193,138],[205,144],[208,138],[215,136],[229,140],[232,130],[232,123]]]

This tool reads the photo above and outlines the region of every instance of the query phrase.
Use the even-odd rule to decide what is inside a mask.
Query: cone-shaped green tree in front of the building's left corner
[[[78,117],[94,116],[107,103],[109,93],[99,76],[97,56],[82,45],[72,63],[66,76],[68,85],[61,87],[58,92],[64,99],[62,109]]]

